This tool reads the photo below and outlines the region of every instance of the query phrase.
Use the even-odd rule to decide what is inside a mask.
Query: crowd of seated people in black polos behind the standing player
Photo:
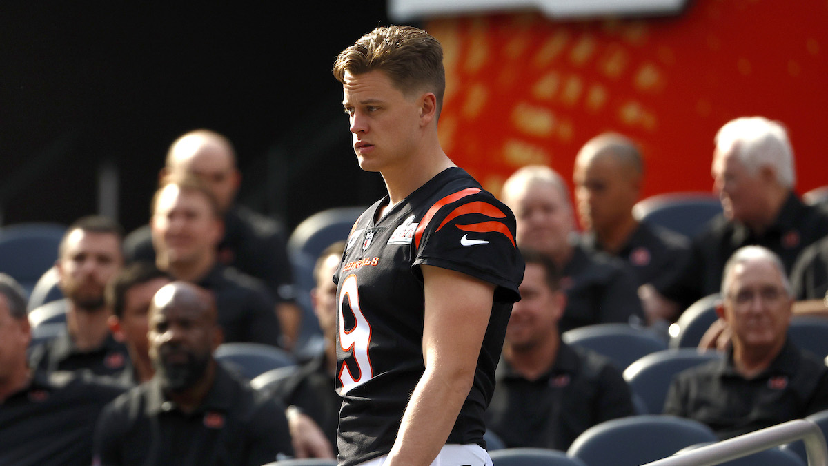
[[[621,371],[561,333],[603,323],[660,333],[712,293],[721,294],[719,319],[701,346],[724,357],[676,376],[664,413],[724,438],[828,409],[826,355],[787,339],[792,316],[828,316],[828,213],[794,192],[785,129],[758,117],[720,129],[712,173],[724,213],[692,238],[633,216],[643,161],[632,139],[603,133],[575,158],[575,192],[543,166],[503,185],[527,263],[486,413],[506,447],[566,450],[591,426],[639,412]],[[344,245],[321,252],[314,269],[322,352],[253,390],[213,353],[222,342],[295,349],[301,311],[285,234],[234,203],[240,175],[218,133],[176,139],[159,180],[148,225],[125,240],[101,216],[66,230],[56,262],[65,299],[46,304],[65,313],[65,332],[30,347],[25,296],[0,277],[0,347],[11,348],[0,351],[0,464],[335,457],[330,278]],[[38,444],[6,434],[60,425],[79,406],[88,409],[72,439],[65,430],[43,431]],[[60,454],[37,448],[69,441]]]

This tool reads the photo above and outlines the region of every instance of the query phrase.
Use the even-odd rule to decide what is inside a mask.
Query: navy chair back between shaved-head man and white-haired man
[[[657,194],[633,206],[633,216],[639,221],[663,226],[688,237],[696,235],[721,211],[719,198],[708,192]]]

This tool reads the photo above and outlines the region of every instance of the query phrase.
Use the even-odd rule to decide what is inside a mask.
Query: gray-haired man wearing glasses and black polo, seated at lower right
[[[787,337],[794,297],[777,255],[762,246],[736,250],[721,295],[716,313],[732,347],[676,376],[664,414],[698,420],[724,439],[828,409],[828,367]]]

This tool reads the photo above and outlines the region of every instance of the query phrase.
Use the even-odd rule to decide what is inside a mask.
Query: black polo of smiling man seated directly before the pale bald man
[[[282,332],[275,303],[258,279],[216,264],[198,285],[215,294],[225,342],[278,346]]]

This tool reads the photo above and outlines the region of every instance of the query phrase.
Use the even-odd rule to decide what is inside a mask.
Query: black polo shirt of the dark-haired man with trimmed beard
[[[127,347],[116,341],[112,333],[107,333],[101,346],[81,351],[67,330],[29,352],[29,366],[46,372],[89,370],[96,376],[116,376],[128,363]]]

